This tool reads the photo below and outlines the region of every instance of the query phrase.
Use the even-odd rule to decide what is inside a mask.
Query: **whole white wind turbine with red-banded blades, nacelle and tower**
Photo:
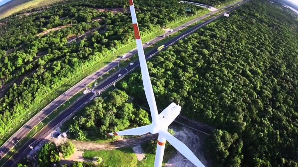
[[[166,144],[166,140],[172,144],[184,157],[186,157],[190,162],[192,162],[195,166],[204,166],[201,161],[193,154],[193,152],[181,141],[172,136],[167,130],[168,126],[175,120],[175,118],[180,114],[181,106],[176,105],[176,103],[171,103],[167,108],[165,108],[160,114],[157,112],[155,97],[153,93],[152,84],[150,81],[150,76],[148,72],[148,67],[146,63],[146,58],[144,54],[144,49],[142,46],[141,35],[139,32],[139,26],[136,19],[136,11],[134,9],[133,0],[129,0],[131,18],[134,27],[134,36],[136,38],[136,46],[139,54],[139,61],[142,73],[142,80],[144,85],[144,90],[146,94],[146,98],[148,101],[148,105],[150,107],[150,113],[152,117],[152,124],[146,125],[142,127],[136,127],[128,130],[123,130],[120,132],[108,133],[109,136],[136,136],[136,135],[144,135],[146,133],[156,134],[158,133],[158,141],[157,141],[157,149],[155,155],[155,167],[162,166],[162,159],[164,156],[164,147]]]

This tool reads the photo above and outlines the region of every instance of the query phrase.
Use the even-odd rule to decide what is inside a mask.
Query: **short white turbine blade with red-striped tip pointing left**
[[[108,133],[109,136],[136,136],[136,135],[144,135],[149,133],[151,125],[135,127],[128,130],[122,130],[120,132]]]

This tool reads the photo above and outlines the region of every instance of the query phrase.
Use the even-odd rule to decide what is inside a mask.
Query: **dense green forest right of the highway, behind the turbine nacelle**
[[[298,21],[250,1],[147,62],[157,106],[212,125],[215,166],[298,166]],[[140,72],[122,81],[146,105]]]

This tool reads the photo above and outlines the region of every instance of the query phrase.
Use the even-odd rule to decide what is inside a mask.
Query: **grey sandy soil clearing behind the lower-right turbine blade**
[[[208,166],[208,162],[203,156],[203,144],[206,136],[202,135],[202,133],[198,133],[196,131],[191,130],[187,127],[171,127],[176,133],[175,137],[186,144],[190,150],[199,158],[199,160],[205,165]],[[195,167],[193,163],[187,160],[183,155],[181,155],[178,151],[177,154],[172,157],[166,164],[166,167]]]

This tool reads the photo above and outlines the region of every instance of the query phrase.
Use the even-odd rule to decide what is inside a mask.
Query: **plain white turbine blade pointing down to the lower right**
[[[169,132],[159,132],[173,147],[175,147],[184,157],[186,157],[195,166],[203,167],[203,163],[195,156],[195,154],[180,140],[172,136]]]

